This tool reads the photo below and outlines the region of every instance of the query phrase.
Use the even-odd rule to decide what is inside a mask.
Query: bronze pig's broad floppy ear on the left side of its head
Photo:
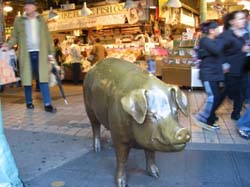
[[[147,114],[147,98],[145,89],[137,89],[121,99],[123,109],[139,124],[142,124]]]

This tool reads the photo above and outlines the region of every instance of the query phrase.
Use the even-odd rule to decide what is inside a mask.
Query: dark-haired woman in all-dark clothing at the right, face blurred
[[[242,32],[246,25],[246,17],[242,11],[234,11],[224,18],[224,32],[221,37],[225,42],[224,62],[230,64],[229,72],[225,74],[226,93],[233,100],[231,119],[238,120],[246,92],[246,75],[244,66],[246,53],[250,47],[245,44],[249,38]]]

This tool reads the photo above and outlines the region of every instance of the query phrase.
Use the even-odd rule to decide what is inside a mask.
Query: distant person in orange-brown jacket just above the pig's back
[[[96,62],[103,60],[107,55],[108,52],[105,47],[101,44],[99,38],[96,38],[95,44],[90,51],[90,56],[92,55],[91,65],[94,65]]]

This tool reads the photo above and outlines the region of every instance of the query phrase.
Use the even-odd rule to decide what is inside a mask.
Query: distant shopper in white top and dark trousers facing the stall
[[[70,56],[72,63],[72,79],[74,84],[77,85],[81,72],[81,49],[77,38],[74,39],[74,43],[70,46]]]

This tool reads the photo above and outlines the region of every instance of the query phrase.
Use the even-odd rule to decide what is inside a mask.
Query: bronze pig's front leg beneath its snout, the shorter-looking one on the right
[[[155,164],[155,152],[149,150],[144,151],[146,156],[146,170],[148,174],[156,178],[160,177],[160,171]]]

